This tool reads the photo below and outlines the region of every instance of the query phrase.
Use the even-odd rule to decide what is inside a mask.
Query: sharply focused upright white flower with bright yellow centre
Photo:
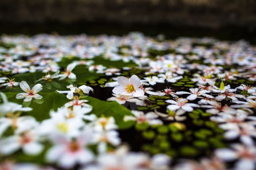
[[[118,86],[113,89],[113,93],[127,96],[141,97],[144,91],[140,89],[140,79],[136,75],[132,75],[130,81],[125,77],[117,79]]]

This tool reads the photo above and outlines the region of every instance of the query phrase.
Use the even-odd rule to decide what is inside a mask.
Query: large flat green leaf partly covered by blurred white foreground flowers
[[[23,99],[16,99],[15,96],[18,93],[15,92],[6,92],[5,93],[8,100],[22,104]],[[32,100],[29,107],[32,107],[33,110],[30,112],[24,113],[24,115],[31,115],[36,118],[38,121],[42,121],[44,119],[49,118],[49,111],[51,109],[57,110],[58,107],[62,107],[68,100],[65,94],[60,94],[58,92],[50,92],[50,93],[38,93],[43,96],[44,102],[42,104],[38,104]],[[84,99],[84,98],[82,98]],[[95,114],[98,117],[100,116],[113,116],[116,120],[116,124],[118,125],[119,129],[127,129],[133,125],[134,122],[124,122],[124,115],[132,115],[131,111],[126,107],[118,104],[116,101],[102,101],[90,96],[86,97],[86,100],[89,100],[88,104],[92,105],[93,109],[90,114]]]

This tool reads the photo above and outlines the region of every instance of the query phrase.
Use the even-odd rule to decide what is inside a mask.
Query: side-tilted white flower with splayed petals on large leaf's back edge
[[[81,85],[80,87],[75,87],[74,85],[68,85],[67,88],[70,89],[70,91],[58,91],[56,90],[56,92],[58,93],[62,93],[62,94],[65,94],[65,93],[68,93],[67,94],[67,98],[68,99],[72,99],[74,97],[74,94],[73,93],[80,93],[80,92],[83,92],[85,94],[88,94],[90,91],[93,92],[93,88],[92,87],[89,87],[89,86],[86,86],[86,85]]]

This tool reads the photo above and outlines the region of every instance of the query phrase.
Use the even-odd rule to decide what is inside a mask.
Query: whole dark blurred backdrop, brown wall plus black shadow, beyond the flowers
[[[0,34],[215,36],[256,44],[256,0],[0,0]]]

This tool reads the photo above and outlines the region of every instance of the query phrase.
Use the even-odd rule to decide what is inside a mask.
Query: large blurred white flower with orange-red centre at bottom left
[[[53,146],[46,153],[48,162],[57,162],[64,168],[71,168],[76,163],[86,164],[93,160],[93,153],[86,148],[92,140],[92,131],[87,129],[76,139],[69,139],[61,134],[50,137]]]

